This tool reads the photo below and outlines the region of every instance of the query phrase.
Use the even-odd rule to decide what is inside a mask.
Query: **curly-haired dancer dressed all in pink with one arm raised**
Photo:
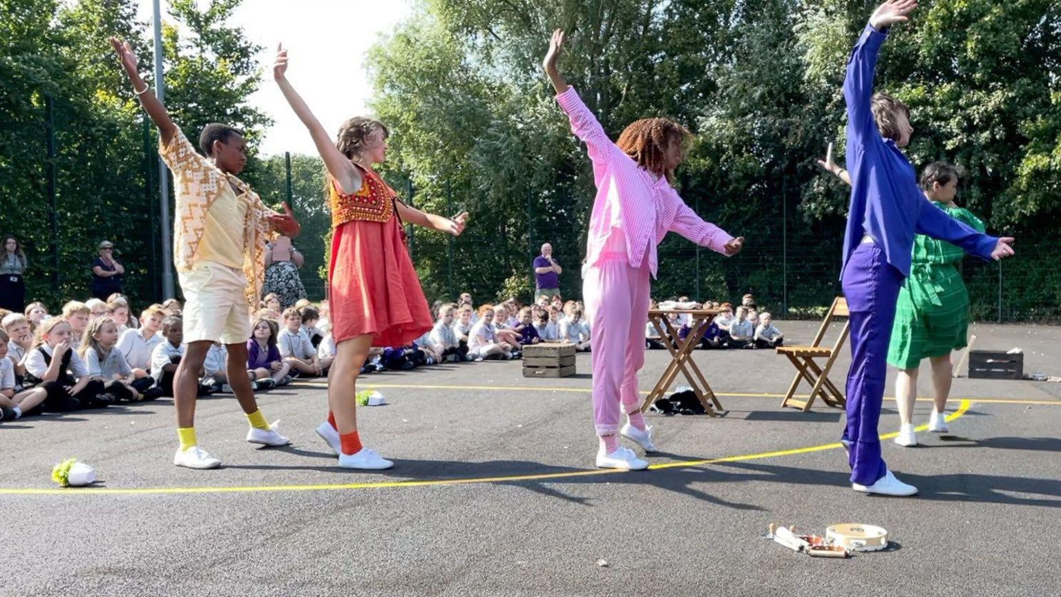
[[[597,187],[582,286],[593,322],[593,416],[601,438],[596,465],[642,470],[648,463],[622,447],[616,433],[645,451],[656,450],[651,428],[639,410],[638,393],[656,245],[666,233],[675,232],[724,255],[735,255],[744,238],[733,238],[701,220],[671,186],[690,135],[680,124],[665,118],[638,120],[623,131],[618,142],[611,142],[557,70],[563,41],[563,32],[555,31],[543,66],[556,89],[556,101],[571,119],[572,132],[586,142]],[[627,414],[622,428],[621,412]]]

